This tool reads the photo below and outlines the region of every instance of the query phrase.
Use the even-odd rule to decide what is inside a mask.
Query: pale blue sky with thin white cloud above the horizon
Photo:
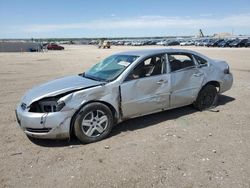
[[[250,34],[250,0],[0,0],[0,38]]]

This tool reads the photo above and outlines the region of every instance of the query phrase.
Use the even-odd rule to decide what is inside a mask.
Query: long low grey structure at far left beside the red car
[[[40,43],[0,41],[0,52],[34,52],[41,51]]]

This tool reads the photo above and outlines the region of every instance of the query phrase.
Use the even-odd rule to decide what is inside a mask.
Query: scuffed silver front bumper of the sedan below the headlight
[[[28,136],[35,138],[60,139],[69,138],[70,121],[74,111],[53,113],[33,113],[17,106],[16,118],[20,128]]]

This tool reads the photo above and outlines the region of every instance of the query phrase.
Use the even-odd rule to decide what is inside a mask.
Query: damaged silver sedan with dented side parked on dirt
[[[84,73],[29,90],[16,108],[26,135],[96,142],[114,125],[138,116],[193,104],[216,104],[231,88],[229,65],[183,49],[151,49],[112,55]]]

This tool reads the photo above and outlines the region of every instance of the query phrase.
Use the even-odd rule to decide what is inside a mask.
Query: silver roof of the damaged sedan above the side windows
[[[197,54],[196,52],[192,50],[163,48],[163,49],[144,49],[144,50],[125,51],[125,52],[117,53],[117,55],[134,55],[134,56],[146,57],[146,56],[155,55],[155,54],[173,53],[173,52]]]

